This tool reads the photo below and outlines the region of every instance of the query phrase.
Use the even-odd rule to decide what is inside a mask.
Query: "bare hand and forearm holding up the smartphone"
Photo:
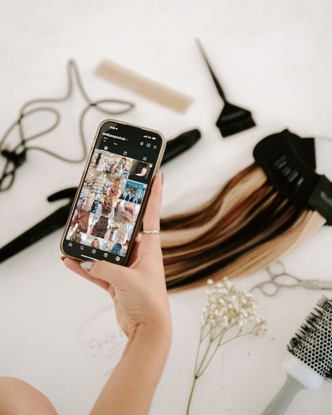
[[[159,229],[162,177],[155,177],[144,215],[144,229]],[[129,267],[106,261],[64,264],[111,295],[116,318],[128,341],[91,415],[146,415],[167,360],[171,341],[170,307],[160,238],[144,234]]]

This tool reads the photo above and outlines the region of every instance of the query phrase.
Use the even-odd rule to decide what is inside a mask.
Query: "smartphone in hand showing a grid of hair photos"
[[[64,255],[128,264],[165,147],[150,128],[99,125],[62,236]]]

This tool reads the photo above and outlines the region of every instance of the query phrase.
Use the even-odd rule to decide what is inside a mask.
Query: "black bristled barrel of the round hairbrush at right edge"
[[[287,346],[325,379],[332,379],[332,300],[321,297]]]

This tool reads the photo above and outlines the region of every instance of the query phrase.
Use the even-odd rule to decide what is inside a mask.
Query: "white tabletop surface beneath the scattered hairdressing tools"
[[[167,138],[201,129],[202,140],[163,169],[163,215],[174,206],[186,210],[249,165],[254,144],[265,135],[287,127],[303,136],[332,136],[331,16],[327,0],[2,1],[1,134],[26,100],[64,93],[65,64],[74,57],[93,98],[137,104],[120,119],[160,130]],[[253,111],[256,128],[221,138],[214,125],[221,100],[195,37],[202,40],[230,100]],[[105,57],[191,95],[193,105],[177,114],[98,79],[93,71]],[[70,104],[59,106],[62,125],[39,144],[78,156],[82,107],[77,93]],[[102,118],[88,116],[90,140]],[[33,132],[40,122],[40,117],[30,120],[27,130]],[[331,145],[322,148],[321,159],[331,165]],[[46,196],[76,186],[82,170],[83,163],[69,165],[31,151],[13,188],[0,196],[0,245],[60,207],[61,201],[51,205]],[[188,192],[195,196],[184,198]],[[81,415],[88,414],[125,338],[111,299],[64,268],[61,234],[52,233],[0,265],[0,375],[29,381],[61,415]],[[287,270],[331,279],[331,236],[332,229],[324,227],[287,254]],[[264,278],[261,271],[237,284],[249,289]],[[320,296],[300,288],[270,299],[256,294],[268,332],[238,339],[216,354],[198,381],[191,414],[261,413],[284,382],[286,344]],[[152,415],[185,413],[204,303],[205,287],[170,294],[172,348]],[[317,393],[301,392],[287,414],[330,414],[331,391],[324,383]]]

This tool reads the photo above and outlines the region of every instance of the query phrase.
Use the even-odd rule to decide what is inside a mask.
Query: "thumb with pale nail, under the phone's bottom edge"
[[[82,261],[81,268],[94,278],[106,281],[116,287],[123,281],[123,266],[108,261]]]

